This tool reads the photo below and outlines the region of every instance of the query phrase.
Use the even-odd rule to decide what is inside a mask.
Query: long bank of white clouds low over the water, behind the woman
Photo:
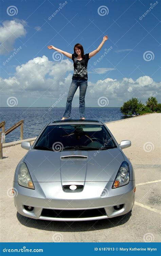
[[[60,62],[49,61],[48,57],[36,57],[16,67],[13,76],[7,79],[0,78],[2,94],[5,97],[15,96],[24,98],[28,105],[27,97],[33,102],[41,97],[42,104],[49,99],[57,99],[59,95],[69,91],[73,75],[73,62],[69,59],[62,59]],[[97,106],[99,97],[105,96],[109,100],[108,106],[121,106],[124,101],[137,97],[143,103],[151,94],[158,92],[161,83],[153,81],[149,76],[141,76],[136,80],[123,78],[121,80],[106,78],[95,83],[88,80],[86,92],[86,106]],[[78,103],[79,89],[74,95],[74,101]],[[66,102],[64,98],[64,105]],[[47,103],[45,105],[48,105]],[[38,106],[41,106],[40,104]],[[60,105],[62,106],[62,102]],[[74,105],[73,105],[74,106]]]

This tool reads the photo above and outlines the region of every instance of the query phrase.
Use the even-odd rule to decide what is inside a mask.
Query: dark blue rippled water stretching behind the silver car
[[[24,120],[23,139],[38,136],[43,127],[51,121],[60,120],[64,114],[64,107],[54,107],[49,110],[48,107],[1,107],[0,122],[6,121],[5,131],[20,120]],[[110,122],[124,119],[119,107],[86,107],[87,119],[101,120]],[[79,108],[71,110],[71,119],[79,119]],[[6,142],[15,141],[20,138],[20,126],[7,134]]]

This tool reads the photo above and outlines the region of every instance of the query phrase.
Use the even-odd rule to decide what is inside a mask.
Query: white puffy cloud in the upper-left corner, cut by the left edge
[[[0,27],[0,54],[8,54],[14,50],[15,40],[25,35],[26,30],[22,22],[16,20],[4,21]]]

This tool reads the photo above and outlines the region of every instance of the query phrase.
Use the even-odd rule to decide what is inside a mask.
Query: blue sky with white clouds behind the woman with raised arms
[[[10,106],[10,97],[16,98],[16,107],[50,106],[64,94],[56,106],[65,107],[73,61],[66,56],[54,61],[54,50],[47,46],[73,53],[74,45],[80,43],[89,53],[100,45],[104,35],[109,39],[88,62],[86,106],[101,106],[101,97],[108,99],[108,107],[120,107],[132,97],[145,103],[154,94],[161,102],[159,1],[0,3],[2,107]],[[78,107],[78,103],[79,89],[72,107]]]

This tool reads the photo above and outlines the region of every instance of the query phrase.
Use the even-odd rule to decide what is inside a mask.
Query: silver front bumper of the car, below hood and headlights
[[[59,182],[34,183],[35,190],[14,182],[13,187],[18,191],[14,203],[19,214],[34,219],[85,221],[113,218],[132,209],[135,181],[115,189],[111,189],[112,184],[113,182],[87,182],[82,192],[66,193],[62,191]],[[101,195],[100,191],[103,189],[105,193]],[[116,209],[115,206],[118,205],[121,206],[120,209]],[[34,208],[30,211],[26,206]]]

